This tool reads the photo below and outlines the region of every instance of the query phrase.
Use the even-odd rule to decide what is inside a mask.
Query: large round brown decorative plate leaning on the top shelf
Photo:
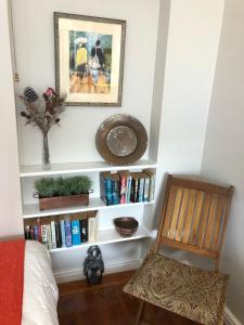
[[[95,144],[100,155],[112,165],[130,165],[144,154],[147,134],[130,115],[114,115],[99,128]]]

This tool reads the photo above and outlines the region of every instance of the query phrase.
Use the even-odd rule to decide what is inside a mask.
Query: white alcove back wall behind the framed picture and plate
[[[104,16],[127,21],[121,108],[68,107],[61,129],[50,132],[52,162],[101,160],[94,143],[102,121],[113,114],[131,114],[150,129],[159,0],[13,0],[18,93],[26,86],[43,91],[54,87],[53,12]],[[38,14],[37,14],[38,13]],[[20,107],[20,105],[18,105]],[[18,109],[20,114],[20,109]],[[41,162],[41,135],[20,125],[22,165]]]

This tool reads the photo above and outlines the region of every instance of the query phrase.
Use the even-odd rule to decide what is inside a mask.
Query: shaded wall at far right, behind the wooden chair
[[[244,2],[227,0],[202,173],[235,187],[222,257],[227,303],[244,324]]]

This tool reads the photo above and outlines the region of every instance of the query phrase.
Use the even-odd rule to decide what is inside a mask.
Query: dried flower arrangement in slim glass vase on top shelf
[[[27,87],[24,94],[20,96],[26,110],[21,112],[21,116],[26,119],[26,125],[37,126],[43,134],[43,169],[49,169],[50,156],[48,145],[49,130],[60,122],[60,114],[64,112],[65,98],[61,98],[52,88],[48,88],[39,98],[36,91]]]

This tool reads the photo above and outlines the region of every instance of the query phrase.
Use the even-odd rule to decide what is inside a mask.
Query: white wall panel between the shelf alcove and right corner
[[[162,203],[166,172],[201,171],[222,12],[223,0],[171,0],[162,87],[156,208]]]

